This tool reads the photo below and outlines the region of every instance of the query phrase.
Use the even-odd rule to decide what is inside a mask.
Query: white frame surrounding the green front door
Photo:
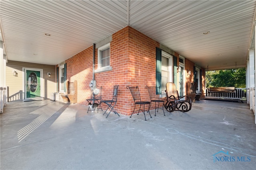
[[[38,69],[38,68],[28,68],[28,67],[23,67],[23,81],[22,81],[22,93],[23,93],[23,101],[31,101],[31,100],[43,100],[44,99],[44,82],[43,82],[43,69]],[[34,98],[34,99],[27,99],[26,98],[26,85],[27,85],[27,70],[30,71],[39,71],[40,72],[40,98]]]

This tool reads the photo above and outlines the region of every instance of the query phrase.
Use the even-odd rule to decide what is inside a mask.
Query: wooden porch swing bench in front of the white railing
[[[214,98],[232,98],[236,92],[235,87],[210,87],[207,88],[207,96]]]

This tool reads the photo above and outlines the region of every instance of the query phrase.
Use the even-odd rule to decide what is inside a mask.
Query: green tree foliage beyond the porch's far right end
[[[206,88],[208,87],[246,87],[245,68],[206,71]]]

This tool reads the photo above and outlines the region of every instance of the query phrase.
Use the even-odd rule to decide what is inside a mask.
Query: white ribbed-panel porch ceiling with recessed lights
[[[130,25],[208,70],[238,68],[255,46],[255,6],[250,0],[1,0],[0,38],[10,61],[56,65]]]

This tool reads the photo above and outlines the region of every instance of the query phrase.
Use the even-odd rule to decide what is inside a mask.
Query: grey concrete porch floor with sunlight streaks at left
[[[1,113],[0,169],[256,168],[247,104],[200,100],[187,113],[132,118],[51,100],[10,102]]]

